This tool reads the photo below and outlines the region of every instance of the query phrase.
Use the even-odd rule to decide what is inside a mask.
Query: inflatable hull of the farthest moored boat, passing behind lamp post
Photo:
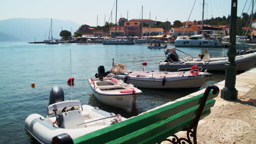
[[[256,64],[256,52],[249,53],[242,56],[237,56],[236,59],[236,70],[245,71],[252,68]],[[220,61],[189,61],[189,62],[160,62],[159,69],[164,71],[176,71],[178,69],[190,68],[193,65],[202,67],[210,71],[224,71],[225,64],[228,62],[228,57],[223,58]]]

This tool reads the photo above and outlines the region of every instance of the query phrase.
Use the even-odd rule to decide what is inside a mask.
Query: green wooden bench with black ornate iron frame
[[[67,134],[55,136],[58,143],[197,143],[196,129],[199,120],[210,115],[219,88],[210,86],[195,97],[160,107],[159,109],[132,117],[121,123],[94,131],[72,140]],[[187,131],[187,138],[178,138],[176,133]],[[172,136],[171,139],[166,137]]]

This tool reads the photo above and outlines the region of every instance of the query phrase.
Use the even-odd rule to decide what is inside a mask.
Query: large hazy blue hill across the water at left
[[[0,32],[13,35],[16,39],[24,41],[42,41],[48,39],[50,29],[49,18],[43,19],[26,19],[16,18],[0,20]],[[61,27],[63,30],[71,31],[72,34],[79,28],[79,24],[73,21],[53,19],[53,38],[60,39]],[[0,39],[2,35],[0,35]]]

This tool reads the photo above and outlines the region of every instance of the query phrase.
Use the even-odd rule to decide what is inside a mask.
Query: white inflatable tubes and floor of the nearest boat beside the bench
[[[89,113],[95,116],[96,119],[100,119],[103,117],[112,116],[111,113],[95,109],[95,107],[89,105],[83,105],[83,109],[86,110],[83,113],[83,116],[86,117]],[[122,117],[124,121],[126,118]],[[92,121],[88,119],[88,121]],[[87,121],[86,121],[87,122]],[[34,113],[28,116],[25,120],[25,130],[29,133],[32,137],[34,137],[40,143],[51,143],[54,136],[66,133],[71,136],[72,139],[77,139],[80,136],[85,134],[89,134],[93,131],[109,127],[111,123],[109,119],[107,120],[100,120],[96,122],[92,122],[86,124],[84,128],[76,128],[76,129],[64,129],[60,127],[56,127],[53,125],[53,122],[50,122],[48,118],[44,118],[43,116]]]

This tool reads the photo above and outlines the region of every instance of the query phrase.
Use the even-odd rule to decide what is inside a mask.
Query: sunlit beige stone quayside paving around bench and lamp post
[[[219,89],[225,81],[216,83]],[[224,100],[220,93],[216,104],[212,107],[211,115],[200,121],[197,128],[198,143],[255,143],[256,109],[255,103],[248,102],[256,99],[256,68],[236,76],[237,100]],[[176,101],[193,97],[205,89]],[[179,133],[184,136],[184,133]],[[168,142],[162,142],[168,143]]]

